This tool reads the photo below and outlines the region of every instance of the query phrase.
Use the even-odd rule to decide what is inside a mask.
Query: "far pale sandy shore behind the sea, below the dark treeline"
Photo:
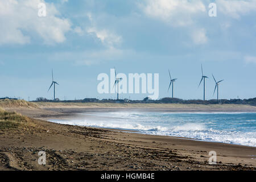
[[[256,113],[256,106],[224,104],[113,104],[113,103],[63,103],[63,102],[28,102],[30,105],[16,105],[15,102],[0,107],[7,111],[16,111],[28,117],[47,120],[49,118],[69,118],[77,113],[108,112],[108,111],[161,111],[173,113]]]

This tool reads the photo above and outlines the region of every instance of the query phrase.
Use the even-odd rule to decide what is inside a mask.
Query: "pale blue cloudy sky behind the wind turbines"
[[[46,16],[39,16],[39,4]],[[209,4],[216,16],[209,16]],[[100,73],[159,73],[159,98],[174,95],[256,97],[256,0],[0,1],[0,97],[60,100],[116,98],[100,94]],[[110,87],[112,87],[110,85]],[[148,94],[120,94],[141,100]]]

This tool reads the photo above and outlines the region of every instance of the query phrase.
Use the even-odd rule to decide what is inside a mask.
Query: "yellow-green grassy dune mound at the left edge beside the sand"
[[[0,109],[0,130],[32,126],[28,117]]]

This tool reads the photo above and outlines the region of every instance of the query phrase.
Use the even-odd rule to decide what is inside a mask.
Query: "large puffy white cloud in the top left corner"
[[[46,3],[46,17],[38,16],[40,0],[0,1],[0,44],[27,44],[32,38],[46,44],[62,43],[71,22],[59,18],[53,3]],[[58,16],[58,17],[57,17]]]

